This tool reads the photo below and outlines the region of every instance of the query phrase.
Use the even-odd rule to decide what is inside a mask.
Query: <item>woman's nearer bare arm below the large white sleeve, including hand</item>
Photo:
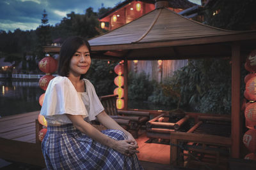
[[[120,153],[123,153],[127,156],[133,153],[137,153],[136,148],[130,143],[132,142],[131,139],[116,141],[115,139],[109,138],[108,136],[102,134],[102,132],[98,131],[95,127],[88,124],[88,122],[84,121],[81,115],[68,115],[67,117],[71,120],[74,124],[76,129],[83,132],[84,134],[88,135],[90,138],[98,141],[102,145],[106,145],[114,150],[117,150]]]

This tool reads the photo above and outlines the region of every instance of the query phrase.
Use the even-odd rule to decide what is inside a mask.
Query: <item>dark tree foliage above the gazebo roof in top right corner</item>
[[[252,30],[256,28],[254,0],[217,0],[205,8],[205,24],[229,30]],[[218,13],[212,15],[214,12]]]

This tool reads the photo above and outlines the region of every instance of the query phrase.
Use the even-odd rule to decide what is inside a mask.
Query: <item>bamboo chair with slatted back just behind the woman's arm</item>
[[[138,138],[138,131],[142,125],[149,120],[149,112],[146,111],[129,111],[116,109],[116,97],[112,94],[101,96],[100,101],[105,108],[106,113],[112,117],[118,124],[127,125],[127,129],[134,138]],[[125,123],[126,122],[126,123]]]

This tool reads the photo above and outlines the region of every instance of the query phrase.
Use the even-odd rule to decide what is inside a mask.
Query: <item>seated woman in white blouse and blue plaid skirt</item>
[[[42,151],[48,169],[142,169],[132,135],[110,118],[90,81],[90,45],[68,38],[60,50],[58,74],[45,92],[40,114],[47,120]],[[108,128],[98,131],[97,120]]]

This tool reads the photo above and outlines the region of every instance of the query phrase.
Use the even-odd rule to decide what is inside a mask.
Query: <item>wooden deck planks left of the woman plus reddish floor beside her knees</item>
[[[0,158],[44,167],[40,143],[36,143],[39,111],[0,118]],[[144,169],[170,169],[170,145],[145,143],[148,138],[140,131],[138,159]]]

